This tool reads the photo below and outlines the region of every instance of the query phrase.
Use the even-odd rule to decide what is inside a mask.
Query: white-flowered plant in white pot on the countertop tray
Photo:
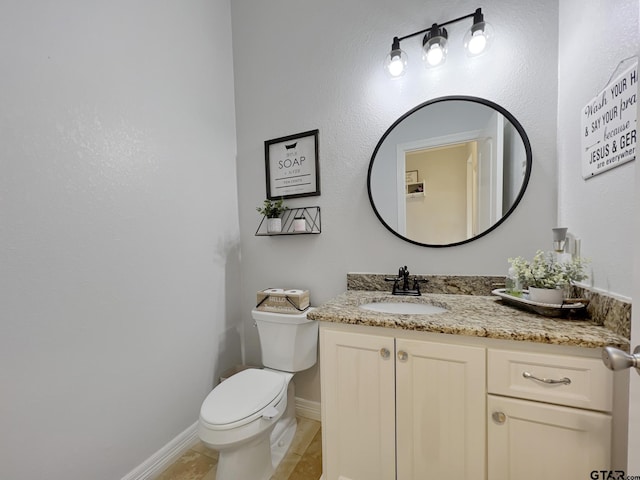
[[[565,287],[587,278],[585,268],[588,260],[572,257],[558,261],[554,252],[538,250],[533,260],[522,257],[510,258],[517,279],[529,289],[529,299],[534,302],[561,304]]]

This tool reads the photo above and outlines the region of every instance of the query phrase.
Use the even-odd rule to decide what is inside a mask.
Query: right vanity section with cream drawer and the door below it
[[[599,359],[489,349],[488,367],[490,479],[609,469],[613,375]]]

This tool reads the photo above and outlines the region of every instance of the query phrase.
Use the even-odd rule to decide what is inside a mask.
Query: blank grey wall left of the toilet
[[[2,3],[1,478],[121,478],[238,361],[230,25]]]

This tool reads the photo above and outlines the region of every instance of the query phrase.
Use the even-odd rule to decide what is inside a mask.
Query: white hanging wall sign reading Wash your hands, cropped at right
[[[638,61],[614,78],[582,111],[582,177],[636,159]]]

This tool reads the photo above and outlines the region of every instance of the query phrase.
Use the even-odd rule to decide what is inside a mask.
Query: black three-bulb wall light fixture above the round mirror
[[[484,21],[482,9],[477,8],[474,13],[456,18],[444,23],[434,23],[429,28],[420,30],[404,37],[393,37],[391,53],[384,61],[385,71],[393,78],[401,77],[407,70],[408,57],[400,48],[400,42],[416,35],[425,34],[422,38],[422,60],[428,68],[442,65],[447,58],[448,33],[446,25],[459,22],[466,18],[473,18],[473,25],[464,36],[464,48],[467,55],[473,57],[485,52],[493,39],[491,24]]]

